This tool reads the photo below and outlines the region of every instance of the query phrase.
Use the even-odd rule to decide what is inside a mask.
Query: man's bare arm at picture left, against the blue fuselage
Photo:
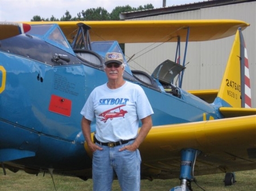
[[[90,123],[92,121],[86,119],[84,116],[82,117],[82,121],[81,121],[81,127],[82,127],[82,134],[84,135],[85,141],[88,145],[88,147],[90,148],[90,150],[92,152],[96,151],[96,150],[102,150],[101,147],[95,145],[92,141],[92,137],[90,137]]]

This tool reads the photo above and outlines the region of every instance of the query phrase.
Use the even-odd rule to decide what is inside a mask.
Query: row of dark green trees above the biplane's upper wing
[[[82,10],[77,14],[77,16],[72,17],[69,11],[67,10],[65,14],[57,19],[55,16],[51,16],[51,18],[41,18],[39,15],[33,16],[31,21],[85,21],[85,20],[120,20],[119,14],[121,12],[131,12],[131,11],[141,11],[146,9],[154,9],[154,6],[150,3],[144,6],[139,6],[138,8],[131,7],[129,5],[126,6],[117,6],[112,12],[108,12],[106,9],[102,7],[97,7],[97,9],[87,9],[86,11]]]

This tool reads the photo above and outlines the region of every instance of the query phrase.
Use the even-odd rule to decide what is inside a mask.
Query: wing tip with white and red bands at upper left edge
[[[29,24],[0,22],[0,40],[20,35],[30,29]]]

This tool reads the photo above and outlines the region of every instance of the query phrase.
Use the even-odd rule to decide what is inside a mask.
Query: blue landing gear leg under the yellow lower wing
[[[192,191],[191,181],[193,180],[192,172],[196,162],[196,156],[200,151],[193,148],[181,150],[180,164],[180,186],[172,188],[170,191]]]

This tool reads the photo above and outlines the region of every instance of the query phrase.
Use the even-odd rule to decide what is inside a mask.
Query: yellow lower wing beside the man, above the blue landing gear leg
[[[256,116],[153,127],[139,147],[142,177],[179,177],[183,148],[201,151],[195,176],[255,169]]]

